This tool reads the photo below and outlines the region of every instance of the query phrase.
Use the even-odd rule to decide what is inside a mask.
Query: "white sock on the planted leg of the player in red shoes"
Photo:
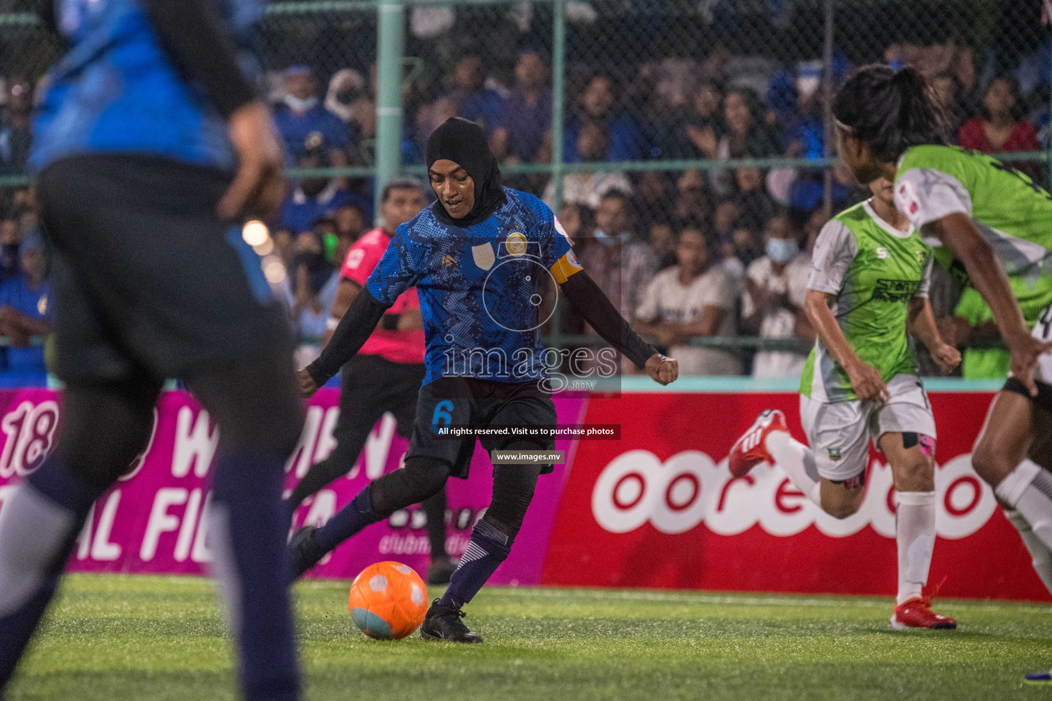
[[[928,583],[935,548],[935,493],[897,492],[895,543],[898,545],[898,595],[895,605],[920,596]]]

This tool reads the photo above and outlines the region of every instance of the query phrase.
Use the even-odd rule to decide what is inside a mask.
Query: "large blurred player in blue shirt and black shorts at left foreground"
[[[69,44],[32,165],[55,251],[58,446],[0,517],[0,683],[92,503],[145,449],[166,377],[219,424],[208,539],[246,698],[299,698],[281,508],[302,426],[282,308],[241,238],[283,156],[242,66],[254,0],[42,3]]]

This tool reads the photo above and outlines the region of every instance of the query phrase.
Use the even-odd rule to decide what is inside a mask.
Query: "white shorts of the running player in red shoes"
[[[888,383],[888,401],[815,401],[801,395],[800,417],[814,452],[818,474],[844,481],[866,470],[869,441],[879,450],[885,433],[918,433],[935,437],[935,417],[916,375],[895,375]]]

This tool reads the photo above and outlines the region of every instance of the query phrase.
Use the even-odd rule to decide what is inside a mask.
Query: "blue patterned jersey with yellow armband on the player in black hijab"
[[[541,296],[581,270],[551,209],[504,188],[507,202],[465,228],[434,215],[439,202],[398,228],[365,282],[391,305],[417,287],[427,351],[424,384],[457,375],[518,383],[547,376]],[[549,358],[549,364],[551,358]]]

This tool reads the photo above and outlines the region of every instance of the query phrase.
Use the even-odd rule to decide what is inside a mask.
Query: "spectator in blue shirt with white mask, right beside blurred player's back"
[[[285,140],[291,161],[304,149],[325,148],[335,166],[347,165],[350,129],[318,99],[318,83],[306,66],[292,66],[284,75],[285,97],[274,111],[274,121]]]

